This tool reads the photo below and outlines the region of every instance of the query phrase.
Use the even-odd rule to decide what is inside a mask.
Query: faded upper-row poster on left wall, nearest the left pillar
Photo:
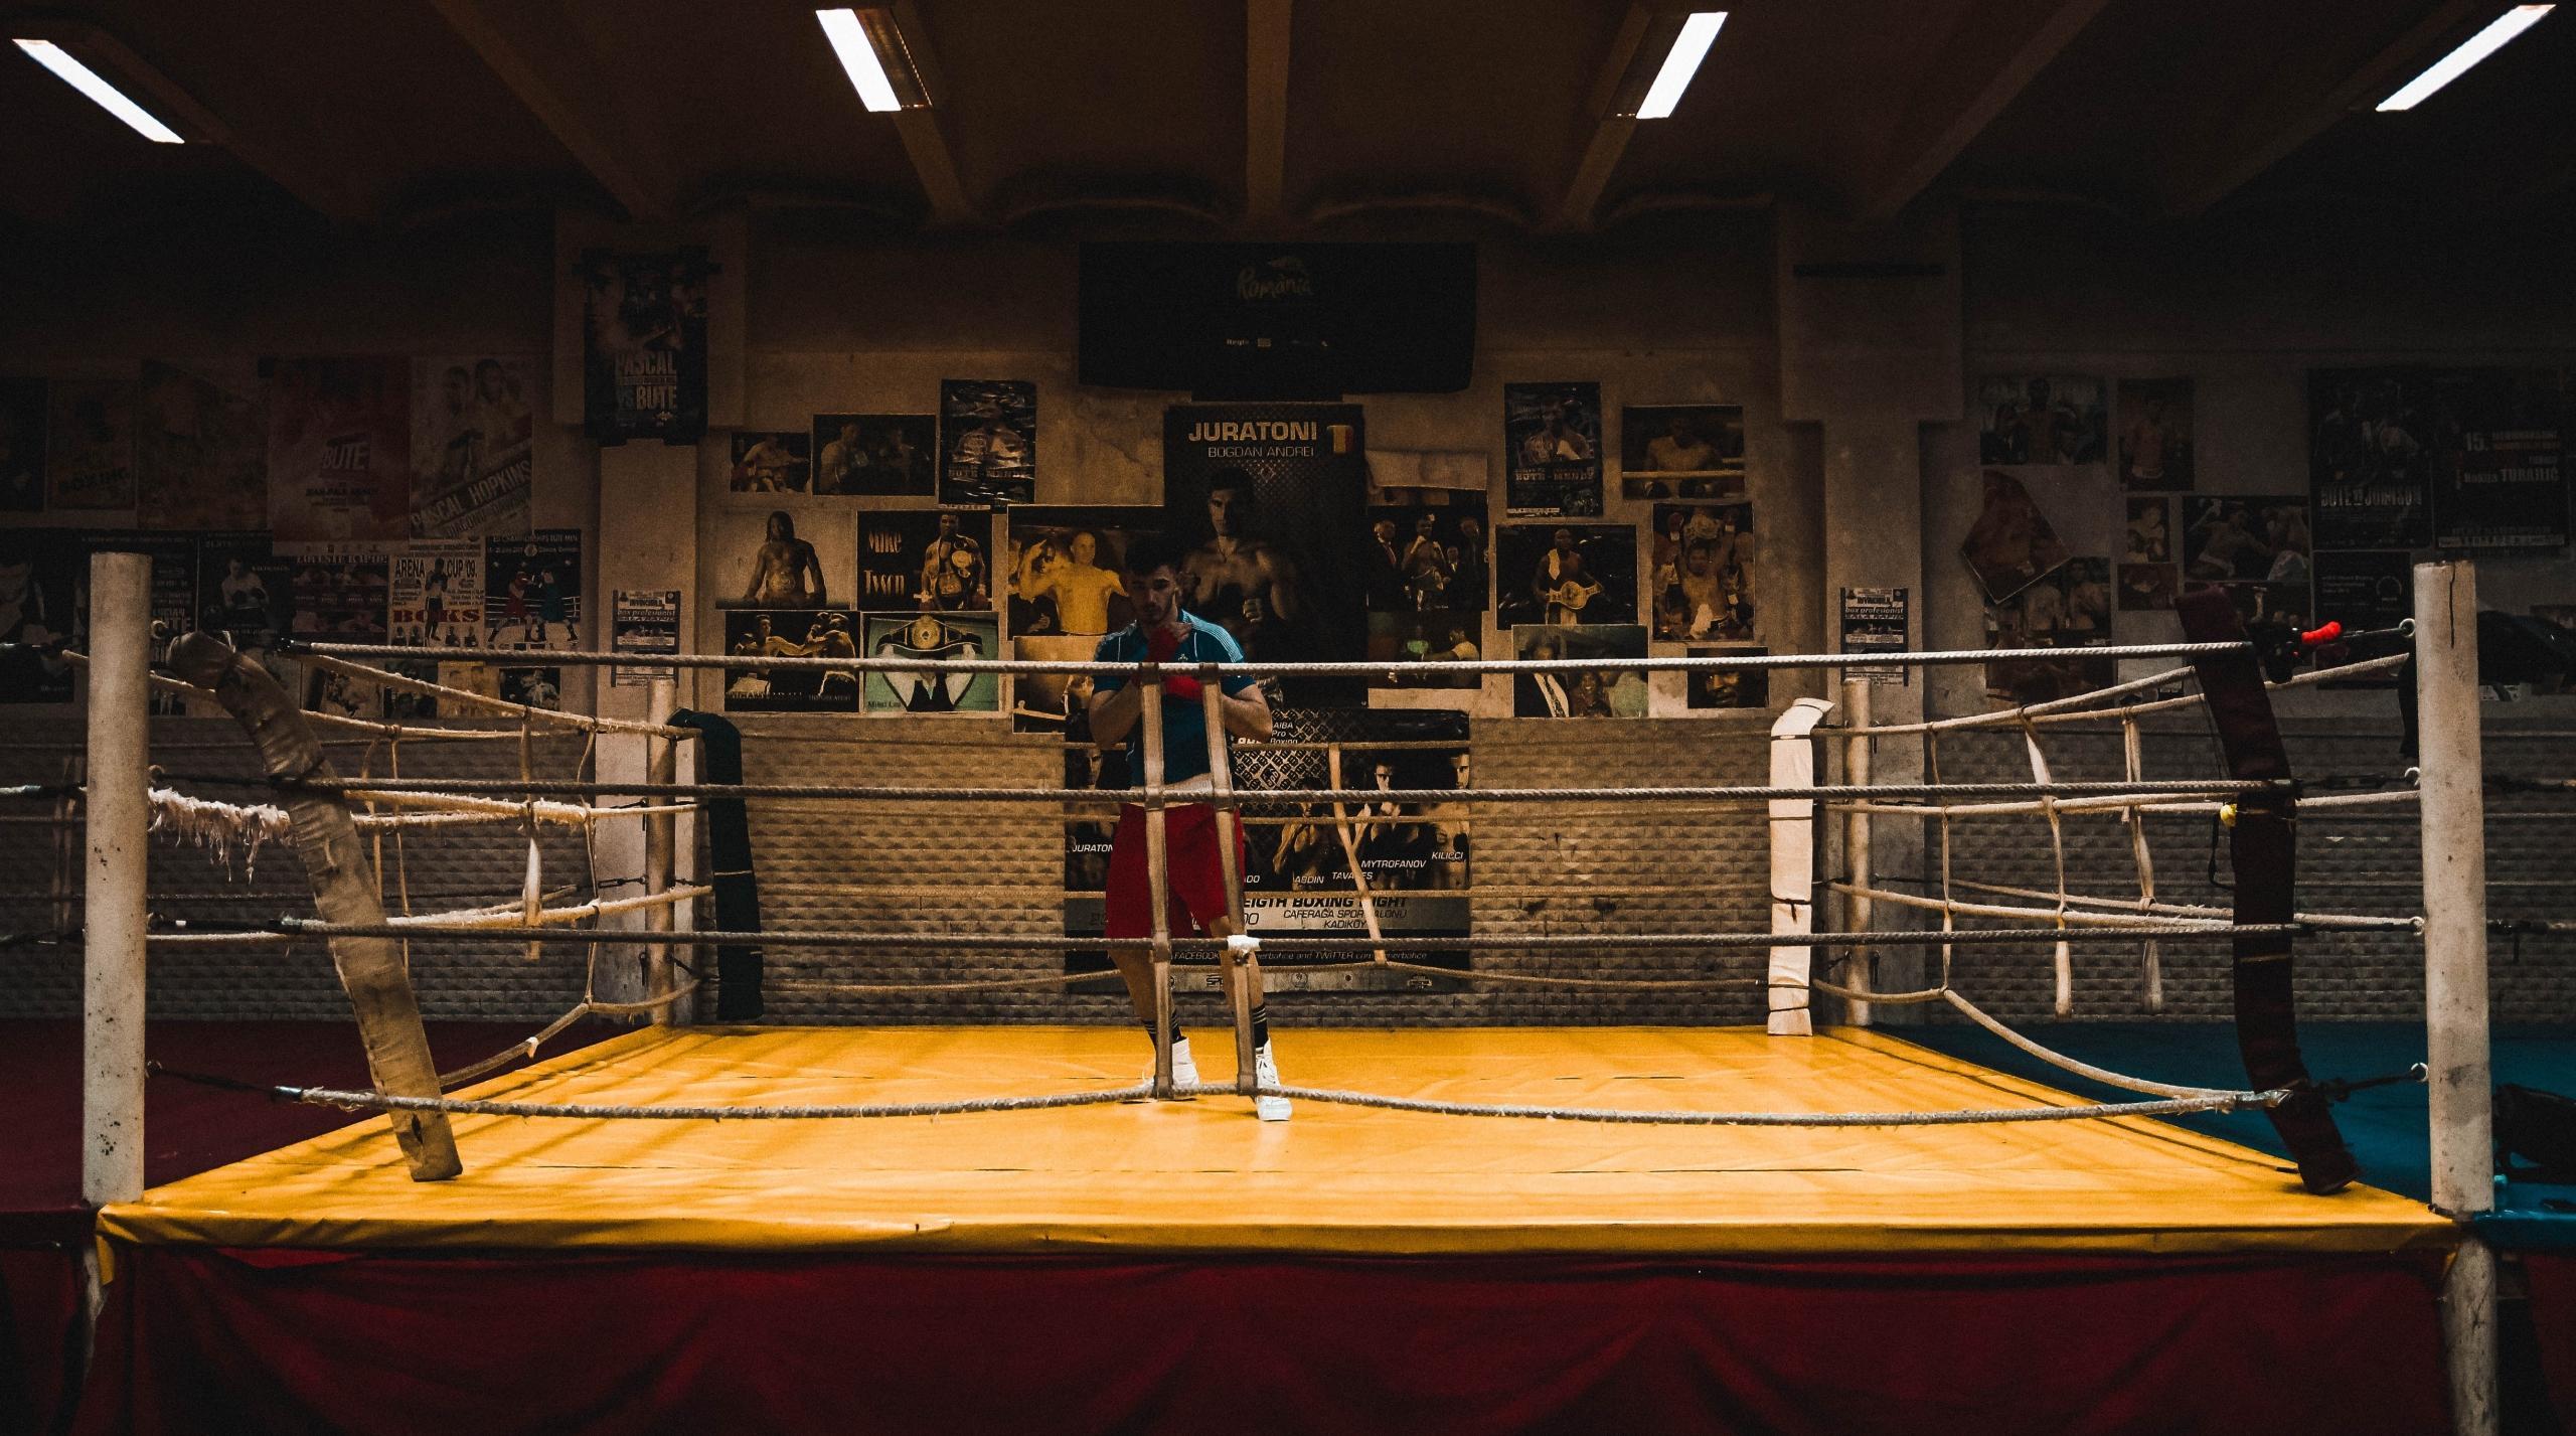
[[[415,539],[528,531],[544,374],[533,356],[412,361]]]

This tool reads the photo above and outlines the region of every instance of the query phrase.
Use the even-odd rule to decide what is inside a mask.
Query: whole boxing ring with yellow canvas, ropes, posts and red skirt
[[[118,570],[116,565],[129,565]],[[641,781],[343,779],[273,683],[211,639],[183,639],[175,683],[222,704],[260,748],[255,802],[160,784],[144,750],[149,639],[139,565],[98,559],[85,784],[88,1124],[106,1307],[85,1428],[1064,1428],[1216,1421],[1249,1428],[1741,1428],[1996,1431],[2481,1428],[2494,1392],[2494,1253],[2458,1217],[2494,1201],[2486,1150],[2483,828],[2473,580],[2419,570],[2411,634],[2385,652],[2311,634],[2249,639],[2223,601],[2184,606],[2182,645],[2089,650],[2182,668],[2004,714],[1870,724],[1868,688],[1801,699],[1770,735],[1767,784],[1551,789],[1270,789],[1213,794],[744,784],[732,727],[515,709],[541,727],[644,740]],[[2213,596],[2215,598],[2215,596]],[[2463,614],[2468,621],[2463,621]],[[456,655],[464,657],[466,650]],[[307,645],[366,675],[443,650]],[[1955,665],[2014,652],[1868,655]],[[909,660],[549,655],[629,668],[933,668]],[[1553,668],[1808,668],[1842,655],[1427,663],[1453,673]],[[1164,675],[1381,673],[1388,665],[945,663],[945,670],[1123,673],[1146,686],[1144,771],[1162,771]],[[2267,673],[2269,668],[2269,673]],[[2300,781],[2269,688],[2409,668],[2421,750],[2411,784]],[[173,678],[160,678],[173,683]],[[265,688],[263,688],[265,686]],[[2174,688],[2190,688],[2172,694]],[[507,704],[479,701],[489,712]],[[2138,719],[2205,709],[2223,776],[2148,779]],[[348,722],[348,719],[340,719]],[[2110,781],[2061,781],[2043,735],[2112,722],[2130,753]],[[1940,742],[2020,732],[2027,784],[1942,784]],[[435,732],[435,730],[430,730]],[[407,730],[404,737],[430,732]],[[495,730],[456,730],[495,737]],[[1211,745],[1221,724],[1208,722]],[[500,732],[497,737],[510,737]],[[1870,781],[1880,742],[1919,740],[1927,779]],[[1816,781],[1842,745],[1842,781]],[[1213,753],[1211,753],[1213,755]],[[690,763],[696,761],[696,763]],[[683,768],[698,773],[680,779]],[[240,779],[232,779],[240,784]],[[2324,786],[2329,791],[2313,791]],[[54,794],[21,794],[54,797]],[[1133,1026],[755,1026],[770,949],[917,949],[922,933],[768,931],[742,853],[762,799],[1133,799],[1146,812],[1159,993],[1154,1072],[1133,1080]],[[629,799],[608,807],[605,799]],[[1770,833],[1767,931],[1584,936],[1195,938],[1164,928],[1164,807],[1468,802],[1528,810],[1641,802],[1728,810]],[[296,848],[317,918],[255,933],[147,931],[139,848],[155,810],[263,830]],[[2424,822],[2424,915],[2313,913],[2298,902],[2303,812],[2388,804]],[[363,810],[363,812],[361,812]],[[268,815],[278,815],[270,820]],[[2066,887],[2063,833],[2148,812],[2208,812],[2231,846],[2233,905],[2159,897],[2143,835],[2138,895]],[[683,882],[675,817],[708,830],[706,882]],[[639,820],[647,892],[564,902],[531,859],[507,907],[384,910],[384,859],[361,817],[582,825]],[[2058,884],[1953,874],[1950,825],[2030,817]],[[1873,871],[1873,825],[1911,822],[1937,882]],[[1839,866],[1819,835],[1839,825]],[[1221,828],[1224,833],[1224,828]],[[381,843],[381,838],[379,838]],[[531,853],[533,853],[531,843]],[[1234,843],[1229,902],[1242,913]],[[729,856],[732,853],[732,856]],[[1352,864],[1363,871],[1360,864]],[[698,928],[693,910],[714,907]],[[1370,895],[1360,892],[1363,910]],[[1829,910],[1839,928],[1819,926]],[[644,928],[592,926],[639,915]],[[1373,913],[1373,910],[1370,910]],[[1909,913],[1937,926],[1880,926]],[[2421,931],[2429,1054],[2414,1072],[2316,1078],[2298,1049],[2293,951],[2339,928]],[[348,985],[371,1085],[250,1083],[278,1101],[368,1114],[355,1127],[144,1189],[139,1013],[147,951],[185,941],[322,938]],[[582,1003],[487,1062],[438,1072],[420,1036],[404,944],[510,941],[585,951]],[[1100,938],[961,933],[961,954],[1095,949]],[[2141,951],[2161,1000],[2161,944],[2231,951],[2241,1085],[2110,1072],[2056,1054],[1973,1000],[1991,951],[2045,949],[2056,1000],[2071,951]],[[1744,987],[1747,1026],[1285,1029],[1293,1080],[1260,1085],[1234,1013],[1234,1070],[1177,1083],[1172,969],[1301,949],[1368,949],[1370,967],[1461,982],[1680,993]],[[1546,954],[1546,972],[1430,967],[1440,951]],[[1654,977],[1582,972],[1587,954],[1669,954]],[[1819,962],[1816,954],[1824,954]],[[1883,990],[1870,954],[1922,951],[1932,977]],[[598,995],[603,954],[631,954],[641,998]],[[1718,954],[1759,954],[1744,980]],[[1079,985],[1048,975],[1015,985]],[[999,980],[958,980],[976,987]],[[863,990],[866,985],[845,985]],[[902,985],[884,985],[902,987]],[[914,985],[917,987],[917,985]],[[680,1021],[716,998],[716,1024]],[[1239,987],[1236,987],[1239,990]],[[1839,1026],[1816,1021],[1819,998]],[[1942,1057],[1870,1026],[1873,1008],[1932,1003],[2076,1078],[2130,1093],[2081,1101]],[[580,1016],[649,1026],[538,1057]],[[1221,1067],[1221,1062],[1208,1062]],[[2432,1080],[2434,1209],[2357,1181],[2334,1101]],[[198,1080],[227,1078],[206,1072]],[[1244,1096],[1288,1096],[1288,1124]],[[2262,1111],[2280,1158],[2159,1116]],[[603,1320],[603,1312],[616,1312]],[[2483,1413],[2483,1415],[2481,1415]]]

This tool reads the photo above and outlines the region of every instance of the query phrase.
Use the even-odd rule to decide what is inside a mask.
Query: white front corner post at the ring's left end
[[[152,559],[90,557],[88,884],[80,926],[80,1199],[144,1194],[144,923],[152,820]]]

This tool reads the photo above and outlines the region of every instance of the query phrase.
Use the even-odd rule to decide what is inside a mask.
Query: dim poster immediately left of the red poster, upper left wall
[[[250,364],[147,358],[134,405],[134,521],[144,529],[268,523],[268,402]]]

